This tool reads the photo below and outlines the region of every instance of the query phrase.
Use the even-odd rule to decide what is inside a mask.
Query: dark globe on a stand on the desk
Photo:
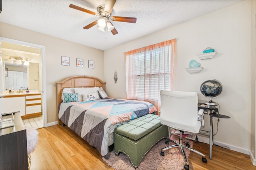
[[[203,82],[200,86],[201,93],[206,97],[209,98],[208,102],[205,102],[207,105],[218,105],[217,103],[212,101],[212,98],[218,97],[223,90],[223,86],[220,81],[214,80],[207,80]]]

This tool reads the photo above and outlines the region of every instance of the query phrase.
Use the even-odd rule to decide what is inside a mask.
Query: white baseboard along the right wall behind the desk
[[[204,136],[201,136],[201,135],[197,135],[197,137],[198,137],[198,141],[200,141],[200,142],[208,143],[208,144],[210,143],[209,137],[204,137]],[[234,145],[230,145],[228,143],[222,143],[222,142],[215,141],[215,140],[214,140],[214,144],[218,145],[218,146],[225,146],[225,147],[228,147],[230,150],[234,150],[236,152],[240,152],[240,153],[250,155],[250,150],[248,150],[248,149],[236,147]]]

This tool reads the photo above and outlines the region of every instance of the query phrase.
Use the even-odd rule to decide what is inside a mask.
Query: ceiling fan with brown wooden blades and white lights
[[[112,16],[112,9],[113,9],[115,3],[116,3],[116,0],[106,0],[105,5],[100,5],[100,6],[97,7],[97,12],[98,13],[92,12],[90,10],[86,10],[86,9],[81,8],[79,6],[75,6],[73,4],[70,4],[69,7],[73,8],[75,10],[80,10],[82,12],[86,12],[88,14],[92,14],[94,16],[100,17],[99,20],[93,21],[92,23],[86,25],[84,27],[84,29],[89,29],[89,28],[93,27],[94,25],[96,25],[98,23],[98,25],[99,25],[98,29],[100,29],[103,32],[111,31],[113,35],[116,35],[116,34],[118,34],[118,32],[116,31],[116,28],[110,22],[110,20],[119,21],[119,22],[136,23],[137,19],[132,18],[132,17]]]

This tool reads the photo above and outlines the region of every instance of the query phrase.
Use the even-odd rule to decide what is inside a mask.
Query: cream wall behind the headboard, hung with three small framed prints
[[[57,121],[56,81],[75,75],[90,75],[104,80],[103,51],[0,22],[0,37],[45,46],[47,123]],[[93,37],[86,37],[90,40]],[[61,56],[70,57],[70,66],[62,66]],[[84,59],[84,67],[76,66],[76,58]],[[94,68],[88,68],[88,60]]]

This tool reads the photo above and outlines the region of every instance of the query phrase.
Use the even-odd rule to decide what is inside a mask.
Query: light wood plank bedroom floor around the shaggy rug
[[[38,131],[38,144],[31,154],[31,170],[113,170],[95,148],[68,127],[54,125]],[[256,170],[246,154],[213,146],[210,160],[208,144],[194,143],[193,148],[206,154],[207,163],[191,152],[190,170]]]

